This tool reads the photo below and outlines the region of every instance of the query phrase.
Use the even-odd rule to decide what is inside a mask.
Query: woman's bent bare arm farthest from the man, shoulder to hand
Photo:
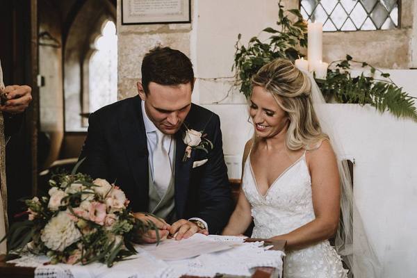
[[[313,208],[316,219],[272,239],[287,240],[286,250],[297,250],[320,240],[332,238],[338,228],[340,188],[336,157],[332,146],[324,140],[321,146],[309,152],[307,159],[311,174]]]

